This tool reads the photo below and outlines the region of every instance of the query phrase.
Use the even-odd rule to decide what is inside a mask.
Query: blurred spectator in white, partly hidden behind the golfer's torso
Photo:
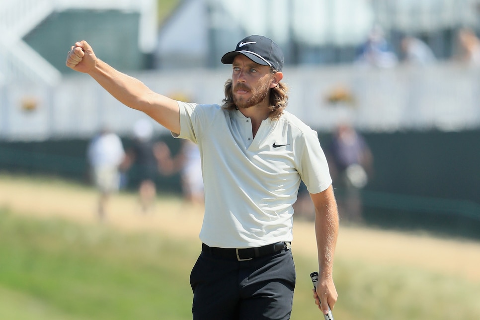
[[[202,162],[198,146],[190,140],[182,140],[180,151],[171,156],[164,143],[155,147],[160,172],[166,175],[180,172],[184,198],[192,204],[204,203]]]

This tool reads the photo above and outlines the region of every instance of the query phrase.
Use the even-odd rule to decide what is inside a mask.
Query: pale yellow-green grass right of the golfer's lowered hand
[[[480,319],[479,284],[365,262],[343,261],[339,268],[337,307],[348,310],[347,319]]]

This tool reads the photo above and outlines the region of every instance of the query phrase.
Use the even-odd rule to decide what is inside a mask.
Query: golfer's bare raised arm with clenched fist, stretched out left
[[[126,106],[145,112],[166,129],[180,133],[178,104],[155,93],[142,81],[125,75],[98,59],[86,41],[76,42],[68,53],[67,67],[90,75]]]

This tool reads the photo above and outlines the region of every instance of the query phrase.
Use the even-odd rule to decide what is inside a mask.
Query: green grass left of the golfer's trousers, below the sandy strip
[[[80,319],[190,318],[188,243],[5,212],[0,226],[3,290]]]

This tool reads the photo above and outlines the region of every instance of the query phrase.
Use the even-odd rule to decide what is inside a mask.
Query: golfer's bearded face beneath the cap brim
[[[270,67],[239,54],[232,68],[232,93],[238,108],[249,108],[268,98],[273,77]],[[265,102],[268,105],[268,99]]]

